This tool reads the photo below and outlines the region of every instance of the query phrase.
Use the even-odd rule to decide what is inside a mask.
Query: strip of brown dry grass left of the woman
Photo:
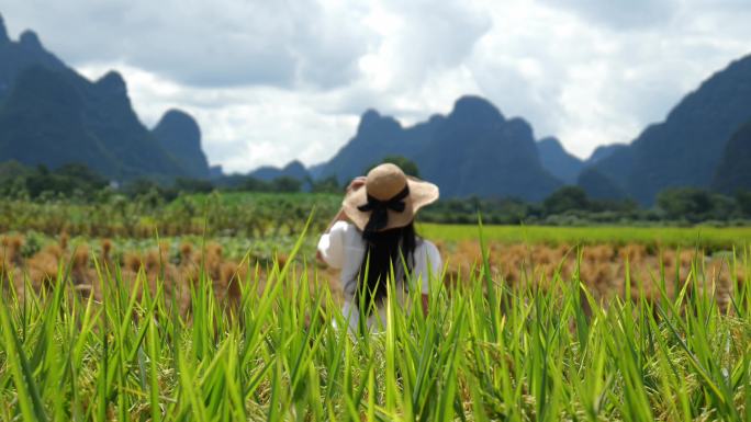
[[[218,300],[237,303],[242,281],[255,275],[254,272],[257,270],[261,281],[259,289],[262,289],[266,274],[271,270],[266,266],[267,264],[254,262],[248,258],[227,258],[224,248],[215,242],[205,246],[182,242],[176,251],[166,242],[145,251],[117,250],[110,239],[99,241],[99,248],[86,243],[71,247],[69,243],[68,236],[61,235],[56,242],[46,244],[38,252],[24,259],[21,253],[24,244],[22,236],[0,237],[0,274],[13,282],[15,294],[22,299],[27,286],[36,292],[49,289],[58,278],[59,271],[69,271],[69,278],[78,292],[85,296],[93,295],[100,300],[100,280],[103,275],[110,274],[110,278],[115,278],[114,274],[119,272],[121,276],[117,278],[125,283],[130,290],[134,287],[137,275],[143,273],[144,285],[136,289],[138,299],[144,287],[154,293],[157,281],[164,280],[165,293],[175,297],[180,309],[184,311],[190,306],[189,287],[198,285],[202,275],[212,282],[213,292]],[[283,266],[287,256],[278,255],[274,263]],[[299,266],[296,271],[302,271],[302,267]],[[320,267],[317,271],[328,280],[336,280],[336,274],[330,269]],[[309,280],[313,281],[313,269],[309,269]],[[332,284],[332,290],[336,296],[340,296],[340,288],[336,283]]]

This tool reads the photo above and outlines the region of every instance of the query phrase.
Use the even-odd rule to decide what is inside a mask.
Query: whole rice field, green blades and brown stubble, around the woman
[[[368,334],[315,232],[4,235],[0,420],[751,418],[747,229],[419,229],[428,311]]]

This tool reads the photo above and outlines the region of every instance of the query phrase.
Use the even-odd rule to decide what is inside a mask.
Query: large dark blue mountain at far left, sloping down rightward
[[[195,139],[188,144],[195,156]],[[165,148],[138,121],[120,73],[91,82],[33,32],[12,42],[0,23],[0,161],[51,168],[77,162],[110,179],[169,179],[192,175],[194,164],[182,162],[183,152]]]

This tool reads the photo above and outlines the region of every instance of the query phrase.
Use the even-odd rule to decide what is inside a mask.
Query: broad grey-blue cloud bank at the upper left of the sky
[[[312,0],[24,0],[4,10],[74,64],[126,62],[189,85],[346,83],[368,37],[356,9]]]

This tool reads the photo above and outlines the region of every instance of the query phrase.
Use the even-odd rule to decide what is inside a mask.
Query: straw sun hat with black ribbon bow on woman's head
[[[341,207],[358,229],[372,232],[408,225],[419,208],[436,199],[438,186],[385,163],[370,170],[363,185],[347,192]]]

